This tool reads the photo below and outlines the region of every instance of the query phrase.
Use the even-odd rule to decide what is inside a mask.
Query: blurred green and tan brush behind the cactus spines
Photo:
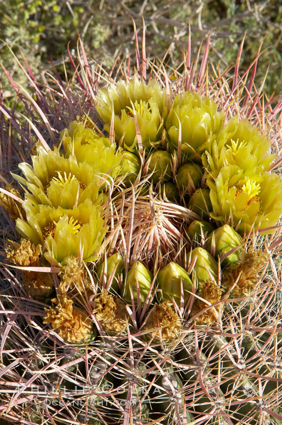
[[[265,36],[259,59],[258,75],[262,81],[270,64],[266,91],[282,91],[282,4],[277,0],[2,0],[0,5],[0,62],[16,81],[24,83],[6,44],[20,56],[22,50],[35,77],[60,66],[71,66],[67,43],[75,56],[78,33],[88,57],[110,67],[121,54],[135,57],[133,23],[142,36],[142,17],[146,23],[146,51],[172,66],[183,60],[187,47],[188,22],[194,52],[212,31],[210,57],[226,68],[236,61],[240,42],[247,31],[241,70],[256,56]],[[139,44],[140,45],[140,44]],[[53,63],[53,64],[52,64]],[[63,67],[60,68],[61,70]],[[0,85],[7,101],[14,94],[6,77]],[[0,76],[1,76],[0,74]]]

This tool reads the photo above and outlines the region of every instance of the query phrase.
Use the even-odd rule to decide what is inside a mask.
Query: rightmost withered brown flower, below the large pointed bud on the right
[[[248,252],[243,251],[240,261],[230,267],[224,273],[224,286],[226,290],[232,290],[234,295],[242,293],[249,294],[258,281],[258,273],[265,267],[270,254],[260,249],[249,248]]]

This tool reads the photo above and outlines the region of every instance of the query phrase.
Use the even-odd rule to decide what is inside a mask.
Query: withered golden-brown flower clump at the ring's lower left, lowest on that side
[[[91,317],[86,311],[77,309],[73,301],[63,293],[53,298],[54,307],[45,308],[43,323],[51,326],[66,342],[72,344],[91,342],[96,336]]]

